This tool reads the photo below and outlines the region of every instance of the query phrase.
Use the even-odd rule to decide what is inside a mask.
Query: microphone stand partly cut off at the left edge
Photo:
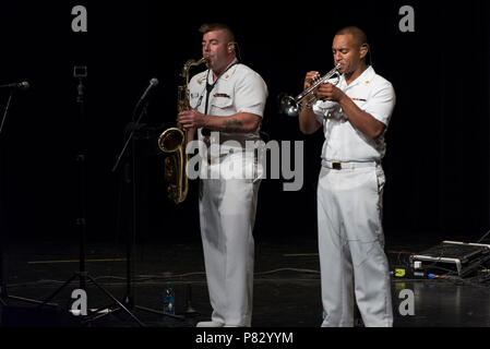
[[[0,141],[2,140],[2,131],[3,131],[3,127],[5,124],[7,115],[9,112],[12,97],[13,97],[15,91],[17,89],[17,87],[14,84],[7,85],[7,86],[3,85],[1,87],[10,87],[11,91],[10,91],[9,99],[5,105],[5,109],[3,111],[2,120],[0,122]],[[2,148],[4,148],[4,147],[0,147],[0,152]],[[2,157],[0,156],[0,163],[1,163],[1,160],[2,160]],[[2,188],[3,188],[2,181],[1,181],[1,170],[2,169],[3,169],[3,166],[1,166],[1,164],[0,164],[0,198],[2,196],[1,192],[2,192]],[[3,209],[1,205],[0,205],[0,209]],[[0,219],[2,219],[2,218],[3,218],[3,213],[0,213]],[[0,225],[0,229],[1,229],[1,225]],[[7,226],[5,226],[5,230],[7,230]],[[28,302],[28,303],[41,304],[43,303],[41,301],[23,298],[23,297],[17,297],[17,296],[12,296],[7,292],[7,277],[4,276],[4,273],[3,273],[4,272],[4,264],[3,264],[3,246],[4,245],[5,245],[5,239],[4,239],[3,233],[0,232],[0,304],[3,306],[7,306],[8,304],[7,304],[5,299],[13,299],[13,300]],[[46,303],[46,305],[58,306],[58,304],[53,304],[53,303]]]

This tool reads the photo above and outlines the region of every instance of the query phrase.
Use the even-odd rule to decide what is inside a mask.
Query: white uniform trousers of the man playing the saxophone
[[[251,326],[259,186],[258,179],[201,180],[201,237],[212,321],[228,326]]]

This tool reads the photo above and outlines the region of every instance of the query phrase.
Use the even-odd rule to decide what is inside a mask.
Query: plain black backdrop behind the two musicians
[[[87,33],[71,29],[76,4],[87,9]],[[405,4],[415,9],[415,33],[398,29]],[[333,68],[332,38],[346,25],[367,32],[374,69],[397,95],[383,163],[386,240],[483,234],[490,229],[489,8],[488,1],[2,1],[0,84],[26,80],[32,87],[14,95],[0,137],[1,232],[21,241],[76,238],[82,139],[88,239],[120,241],[130,197],[111,168],[132,110],[157,77],[143,122],[150,135],[174,125],[179,73],[201,57],[198,28],[225,22],[242,61],[267,83],[263,130],[271,140],[306,142],[301,191],[284,192],[283,180],[262,182],[255,237],[316,234],[322,133],[300,134],[297,119],[278,113],[276,97],[299,93],[307,71]],[[88,69],[83,132],[76,64]],[[2,111],[8,96],[0,89]],[[136,142],[138,239],[200,241],[196,182],[183,204],[168,202],[155,142]]]

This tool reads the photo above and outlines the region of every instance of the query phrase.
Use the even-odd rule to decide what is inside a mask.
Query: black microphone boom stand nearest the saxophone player
[[[153,82],[153,81],[152,81]],[[132,286],[132,277],[134,270],[133,263],[133,254],[134,254],[134,244],[138,236],[138,209],[136,209],[136,171],[135,171],[135,156],[136,156],[136,145],[135,145],[135,131],[140,129],[140,122],[144,116],[147,115],[147,106],[148,101],[144,100],[147,91],[138,101],[136,106],[133,110],[131,132],[128,139],[124,142],[122,151],[119,153],[119,156],[116,160],[115,166],[112,167],[112,172],[116,172],[120,166],[122,157],[128,153],[129,144],[131,143],[131,154],[127,157],[126,168],[129,170],[124,170],[124,183],[131,183],[131,229],[127,231],[127,294],[124,297],[124,303],[129,309],[139,309],[142,311],[151,312],[158,315],[169,316],[176,320],[183,321],[184,316],[168,314],[165,312],[160,312],[154,309],[136,305],[134,301],[134,287]],[[141,111],[136,118],[136,112],[141,107]]]

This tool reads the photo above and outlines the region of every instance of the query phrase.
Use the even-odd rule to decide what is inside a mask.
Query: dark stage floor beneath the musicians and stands
[[[408,266],[411,253],[439,242],[437,238],[420,236],[403,239],[387,236],[386,251],[392,269]],[[86,244],[88,274],[119,301],[128,294],[126,256],[126,245],[118,242],[89,241]],[[77,258],[77,241],[8,243],[4,251],[8,294],[46,300],[79,270]],[[39,310],[32,302],[5,299],[2,325],[139,327],[132,314],[148,327],[193,327],[196,322],[208,318],[211,306],[200,240],[138,243],[132,262],[134,280],[129,293],[138,306],[130,308],[129,312],[119,310],[81,324],[82,316],[68,312],[74,301],[72,291],[79,288],[75,278],[52,299],[51,303],[57,306],[46,305]],[[177,314],[182,315],[181,320],[141,309],[162,311],[167,281],[175,285]],[[413,314],[401,311],[401,308],[407,309],[406,303],[403,304],[404,290],[414,294]],[[392,277],[392,297],[395,327],[490,326],[490,281],[481,275],[451,279]],[[115,302],[88,281],[87,304],[88,309],[105,309]],[[255,238],[252,327],[319,327],[321,322],[316,240]]]

